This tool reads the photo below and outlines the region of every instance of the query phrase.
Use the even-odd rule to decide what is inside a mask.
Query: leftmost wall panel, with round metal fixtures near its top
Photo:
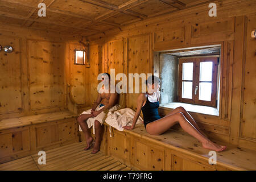
[[[14,52],[0,51],[0,114],[23,111],[22,64],[20,39],[0,35],[1,46],[12,46]]]

